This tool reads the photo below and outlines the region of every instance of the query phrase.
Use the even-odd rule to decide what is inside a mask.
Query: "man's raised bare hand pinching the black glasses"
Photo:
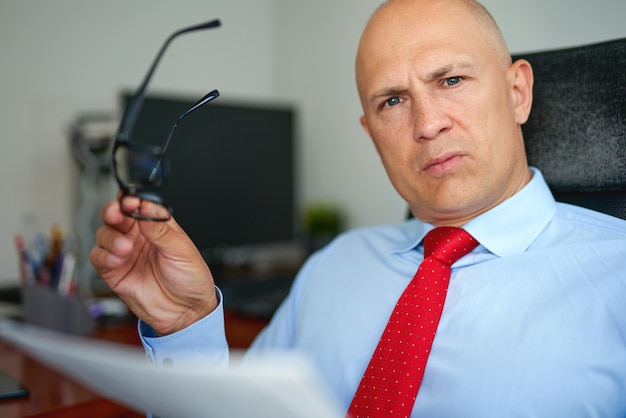
[[[161,209],[144,202],[141,210]],[[211,271],[174,219],[138,221],[122,214],[118,202],[104,206],[102,219],[90,261],[158,335],[179,331],[217,307]]]

